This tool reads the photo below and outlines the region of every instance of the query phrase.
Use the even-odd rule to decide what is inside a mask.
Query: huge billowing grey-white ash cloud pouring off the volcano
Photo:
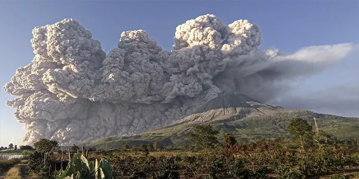
[[[123,32],[106,55],[73,19],[32,33],[35,57],[4,86],[16,96],[7,104],[25,123],[26,144],[134,135],[182,119],[222,92],[266,102],[287,91],[288,81],[326,70],[353,47],[263,51],[257,25],[237,20],[227,26],[211,14],[179,25],[170,52],[135,30]]]

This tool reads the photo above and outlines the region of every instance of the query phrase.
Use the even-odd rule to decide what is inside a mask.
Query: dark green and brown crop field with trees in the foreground
[[[219,132],[211,125],[197,125],[188,136],[193,145],[181,149],[155,143],[107,151],[91,148],[87,155],[74,152],[79,149],[74,145],[63,170],[53,165],[64,158],[55,152],[57,142],[42,139],[34,144],[28,167],[42,178],[359,178],[358,140],[313,132],[302,119],[291,120],[287,129],[290,141],[237,143],[225,133],[218,142]]]

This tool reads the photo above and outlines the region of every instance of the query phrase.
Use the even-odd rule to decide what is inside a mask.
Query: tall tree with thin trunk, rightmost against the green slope
[[[289,121],[287,129],[289,130],[291,140],[300,142],[300,146],[305,151],[305,145],[313,141],[313,127],[306,120],[301,118]]]

